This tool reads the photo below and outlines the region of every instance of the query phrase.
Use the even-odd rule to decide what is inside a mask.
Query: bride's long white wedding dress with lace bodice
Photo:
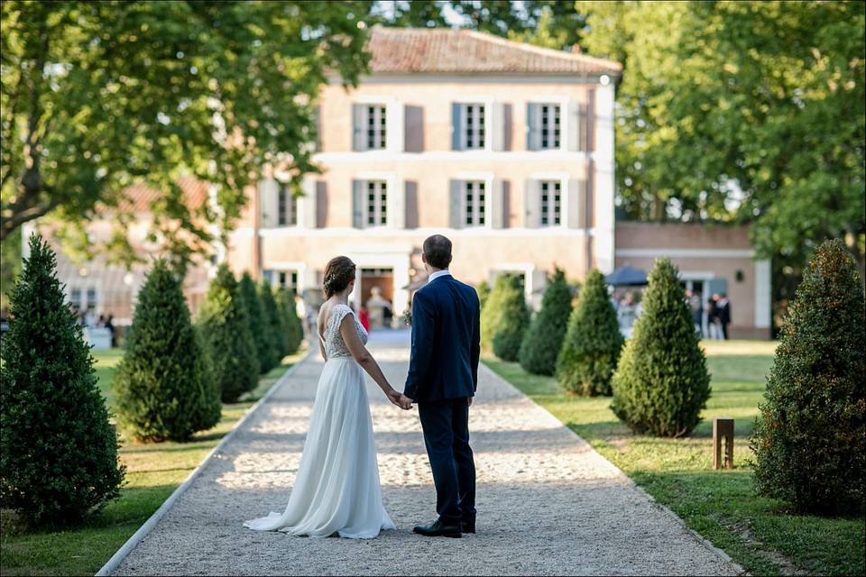
[[[352,315],[361,340],[367,342],[352,309],[333,307],[322,338],[327,362],[318,380],[289,505],[282,514],[272,512],[246,521],[244,527],[311,537],[336,533],[354,539],[370,539],[382,529],[395,528],[382,506],[364,371],[340,334],[346,315]]]

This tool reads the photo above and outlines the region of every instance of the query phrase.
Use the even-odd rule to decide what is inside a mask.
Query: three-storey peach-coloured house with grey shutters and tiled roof
[[[517,272],[534,299],[555,266],[613,268],[619,64],[441,29],[375,27],[368,49],[357,88],[323,90],[323,173],[305,196],[279,179],[250,190],[226,251],[235,270],[307,292],[344,254],[359,267],[354,304],[378,286],[399,315],[430,234],[454,242],[457,278]]]

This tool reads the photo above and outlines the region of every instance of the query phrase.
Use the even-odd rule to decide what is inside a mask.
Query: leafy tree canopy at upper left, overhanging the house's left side
[[[328,71],[355,84],[364,2],[21,2],[2,5],[0,240],[42,215],[83,224],[161,191],[154,228],[172,253],[229,228],[244,185],[280,164],[299,192],[315,171],[313,100]],[[183,175],[213,183],[192,214]]]

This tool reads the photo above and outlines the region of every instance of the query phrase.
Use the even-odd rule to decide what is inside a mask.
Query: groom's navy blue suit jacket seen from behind
[[[404,394],[418,402],[473,397],[478,388],[478,293],[450,275],[412,298],[412,352]]]

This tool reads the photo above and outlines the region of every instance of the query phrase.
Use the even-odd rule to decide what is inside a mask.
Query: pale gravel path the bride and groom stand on
[[[374,334],[392,383],[406,376],[408,336]],[[115,574],[736,574],[611,463],[482,369],[470,416],[478,534],[415,536],[435,517],[418,413],[388,404],[372,381],[384,504],[397,524],[373,540],[260,533],[245,519],[281,511],[297,472],[322,363],[309,357],[232,440]]]

